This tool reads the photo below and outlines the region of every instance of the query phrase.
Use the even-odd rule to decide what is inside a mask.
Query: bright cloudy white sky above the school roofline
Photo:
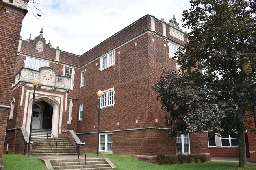
[[[21,29],[23,40],[43,37],[53,48],[82,55],[121,29],[149,14],[166,23],[176,16],[180,24],[182,12],[190,8],[189,0],[35,0],[43,13],[37,18],[32,4]],[[32,13],[33,11],[33,13]],[[38,19],[39,18],[39,19]],[[182,28],[182,27],[181,27]],[[182,28],[183,31],[188,31]]]

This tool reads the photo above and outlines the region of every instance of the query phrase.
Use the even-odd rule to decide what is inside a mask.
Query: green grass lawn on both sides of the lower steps
[[[96,156],[96,154],[87,154]],[[137,159],[119,155],[100,154],[100,157],[108,157],[116,166],[115,170],[245,170],[237,168],[238,163],[205,162],[174,165],[157,165],[146,163]],[[38,159],[25,155],[3,154],[5,170],[48,170]],[[249,170],[256,170],[256,163],[248,163]]]

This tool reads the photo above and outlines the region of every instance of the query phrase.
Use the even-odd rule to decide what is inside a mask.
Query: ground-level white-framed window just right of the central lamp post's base
[[[113,135],[112,133],[100,134],[99,143],[100,152],[112,152],[113,150]]]

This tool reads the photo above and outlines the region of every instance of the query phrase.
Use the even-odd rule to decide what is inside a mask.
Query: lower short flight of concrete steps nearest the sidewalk
[[[85,159],[55,159],[50,160],[54,170],[84,170]],[[104,158],[86,159],[86,170],[111,170]]]

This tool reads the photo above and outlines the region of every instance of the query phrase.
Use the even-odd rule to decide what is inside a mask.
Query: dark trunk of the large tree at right
[[[241,124],[237,132],[238,132],[238,144],[239,144],[239,167],[247,168],[248,166],[246,161],[246,143],[245,143],[244,124]]]

